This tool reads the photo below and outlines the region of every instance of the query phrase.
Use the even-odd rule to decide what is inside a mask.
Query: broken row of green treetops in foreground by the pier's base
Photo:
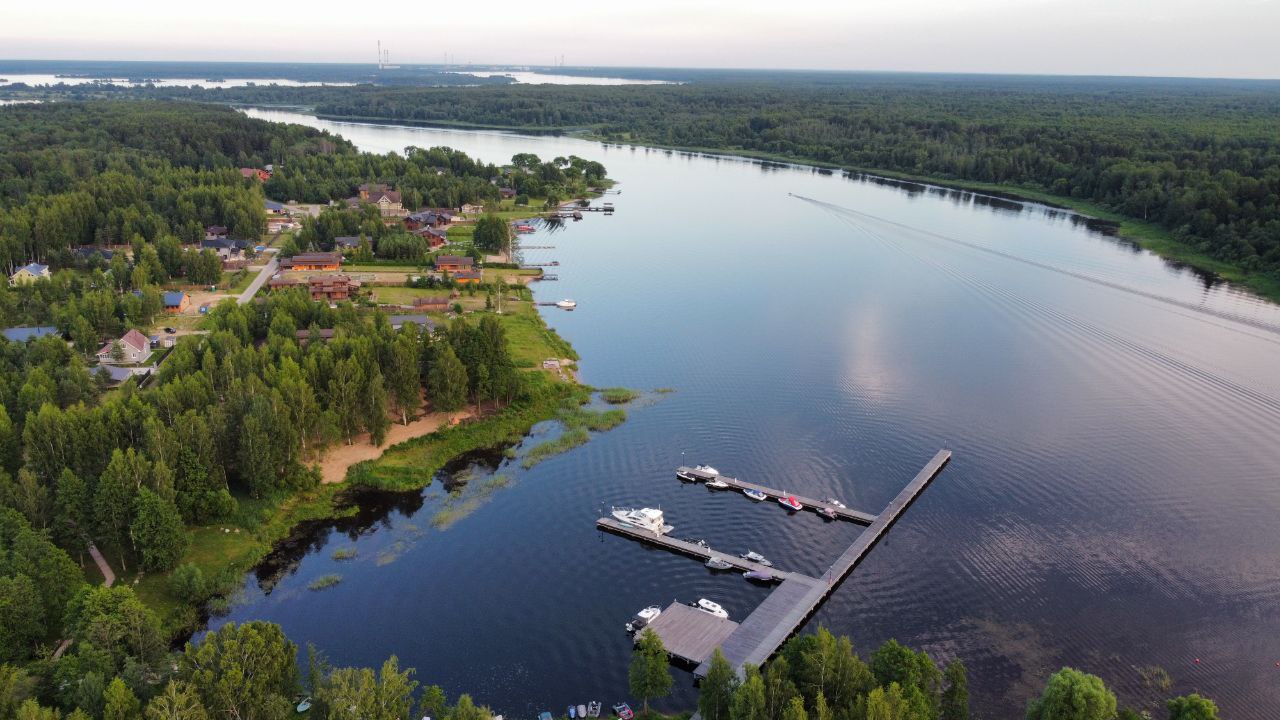
[[[662,639],[646,630],[628,673],[632,694],[648,700],[671,691]],[[1198,694],[1166,703],[1170,720],[1217,720],[1217,706]],[[795,637],[763,669],[748,665],[740,678],[717,648],[698,697],[703,720],[969,720],[969,676],[964,662],[945,669],[925,652],[888,641],[867,660],[847,637],[824,628]],[[1027,703],[1027,720],[1140,720],[1149,712],[1121,708],[1096,675],[1064,667],[1039,697]]]

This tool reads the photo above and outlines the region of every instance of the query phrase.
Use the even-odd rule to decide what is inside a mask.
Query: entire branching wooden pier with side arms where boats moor
[[[728,660],[730,665],[735,669],[739,676],[741,676],[746,664],[756,666],[763,665],[769,657],[773,656],[774,652],[777,652],[780,647],[782,647],[782,643],[786,642],[788,637],[804,625],[805,620],[813,615],[818,606],[822,605],[828,594],[831,594],[832,589],[849,577],[854,568],[856,568],[858,564],[867,557],[867,553],[876,547],[876,543],[879,542],[886,532],[888,532],[899,516],[901,516],[911,502],[914,502],[915,498],[924,492],[924,488],[938,477],[938,473],[941,473],[950,461],[951,451],[940,450],[937,455],[934,455],[933,459],[915,474],[911,482],[909,482],[906,487],[897,493],[897,497],[895,497],[879,515],[869,515],[867,512],[835,507],[820,501],[813,501],[796,496],[796,498],[806,506],[832,507],[841,514],[841,518],[868,525],[867,529],[858,536],[852,544],[840,553],[835,562],[831,564],[831,568],[828,568],[827,571],[818,578],[801,573],[787,573],[776,568],[764,568],[762,565],[756,565],[755,562],[726,555],[698,543],[680,541],[666,536],[655,536],[652,532],[634,528],[612,518],[600,518],[595,521],[595,524],[600,529],[655,544],[673,552],[681,552],[684,555],[698,557],[704,561],[709,557],[717,557],[730,562],[739,570],[750,569],[769,571],[776,579],[782,580],[781,584],[778,584],[773,592],[769,593],[769,597],[764,598],[764,602],[762,602],[755,610],[751,611],[750,615],[746,616],[745,620],[733,628],[726,625],[726,623],[728,623],[727,620],[712,618],[707,612],[694,609],[689,609],[692,611],[692,615],[690,615],[678,610],[676,605],[663,611],[663,614],[649,625],[650,628],[654,628],[654,632],[657,632],[659,637],[662,637],[663,644],[673,657],[691,665],[696,665],[694,675],[699,678],[707,676],[712,652],[719,647],[721,652],[724,653],[724,659]],[[680,470],[689,471],[701,479],[717,477],[692,468],[681,468]],[[751,483],[744,483],[723,475],[719,475],[719,479],[732,487],[759,489],[771,497],[795,495]],[[667,623],[662,623],[663,618],[667,616],[667,612],[672,610],[675,610],[676,614]],[[710,620],[714,620],[714,623],[699,616],[709,618]],[[730,632],[724,633],[718,641],[712,642],[713,638],[719,637],[719,634],[726,629]],[[672,648],[678,648],[678,652]]]

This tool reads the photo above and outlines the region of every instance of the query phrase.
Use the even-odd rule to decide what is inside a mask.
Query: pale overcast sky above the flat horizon
[[[1280,77],[1280,0],[0,1],[0,58]]]

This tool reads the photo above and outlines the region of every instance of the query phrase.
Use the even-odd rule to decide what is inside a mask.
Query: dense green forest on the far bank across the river
[[[588,131],[623,142],[993,183],[1147,220],[1197,254],[1280,282],[1275,82],[758,76],[678,86],[155,92],[306,104],[329,117]]]

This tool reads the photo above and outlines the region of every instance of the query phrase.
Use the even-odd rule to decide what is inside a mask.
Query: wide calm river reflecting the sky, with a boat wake
[[[554,250],[526,260],[561,263],[536,292],[577,300],[545,310],[584,382],[675,392],[531,470],[479,459],[461,473],[500,464],[509,484],[452,523],[436,483],[308,528],[215,626],[279,623],[337,664],[394,653],[508,716],[608,703],[626,697],[634,611],[709,597],[742,619],[767,591],[603,536],[602,509],[660,505],[677,537],[818,574],[856,527],[682,486],[673,466],[684,456],[876,512],[950,447],[951,465],[809,629],[864,653],[897,638],[963,659],[983,717],[1020,717],[1062,665],[1139,708],[1193,691],[1236,719],[1280,707],[1280,307],[1042,205],[573,138],[248,113],[380,152],[604,163],[617,214],[530,236]],[[307,589],[329,573],[343,580]],[[1151,666],[1170,689],[1148,687]],[[677,673],[659,706],[694,697]]]

